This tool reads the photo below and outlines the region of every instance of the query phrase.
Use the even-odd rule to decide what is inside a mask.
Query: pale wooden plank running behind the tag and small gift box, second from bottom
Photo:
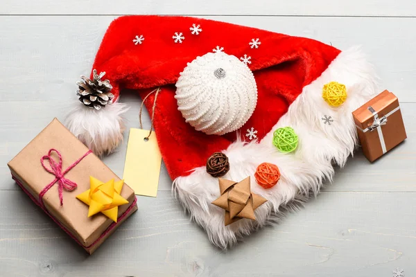
[[[50,101],[48,103],[52,103]],[[128,94],[121,98],[121,102],[130,105],[126,118],[127,130],[130,127],[139,127],[140,103],[136,96]],[[42,112],[51,105],[44,102],[33,102],[24,111],[26,116],[10,118],[0,123],[0,190],[19,190],[10,179],[10,172],[6,163],[10,161],[26,144],[31,141],[46,126],[53,116],[63,120],[65,111],[58,105],[51,105],[53,109]],[[18,110],[20,102],[0,102],[0,117],[7,117],[10,111]],[[412,142],[416,139],[416,104],[401,104],[408,140],[399,145],[376,161],[370,163],[363,153],[358,151],[350,157],[347,166],[336,169],[336,175],[328,191],[416,191],[416,147]],[[33,114],[33,116],[31,116]],[[144,127],[150,127],[147,111],[143,114]],[[26,129],[27,128],[27,129]],[[124,134],[122,145],[114,154],[104,157],[103,161],[120,177],[123,176],[125,151],[127,150],[128,131]],[[329,184],[328,184],[329,185]],[[159,190],[171,190],[171,179],[168,177],[166,167],[162,166],[159,179]]]

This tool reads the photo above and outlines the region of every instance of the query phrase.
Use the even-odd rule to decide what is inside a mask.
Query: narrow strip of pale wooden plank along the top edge
[[[2,15],[337,15],[337,16],[415,16],[410,0],[3,0]]]

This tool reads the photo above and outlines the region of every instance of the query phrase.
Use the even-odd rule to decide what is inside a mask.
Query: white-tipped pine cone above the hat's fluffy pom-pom
[[[101,80],[104,75],[105,72],[101,72],[98,75],[94,69],[92,80],[85,77],[85,75],[81,75],[83,82],[79,81],[76,83],[78,84],[76,95],[80,96],[78,99],[85,106],[101,109],[101,107],[105,107],[105,105],[111,103],[112,98],[114,98],[114,95],[110,92],[112,86],[109,80]]]

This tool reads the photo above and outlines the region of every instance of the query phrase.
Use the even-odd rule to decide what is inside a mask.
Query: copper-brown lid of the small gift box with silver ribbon
[[[361,129],[366,129],[374,123],[374,116],[368,109],[372,107],[374,111],[382,118],[393,109],[399,107],[399,100],[392,92],[385,90],[364,105],[352,112],[355,124]]]

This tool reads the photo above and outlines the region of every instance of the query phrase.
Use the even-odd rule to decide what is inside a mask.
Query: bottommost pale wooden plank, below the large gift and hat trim
[[[19,191],[0,191],[7,276],[392,276],[416,274],[415,193],[322,193],[229,251],[209,244],[168,192],[87,256]],[[17,205],[17,203],[19,203]],[[6,275],[5,275],[6,276]]]

